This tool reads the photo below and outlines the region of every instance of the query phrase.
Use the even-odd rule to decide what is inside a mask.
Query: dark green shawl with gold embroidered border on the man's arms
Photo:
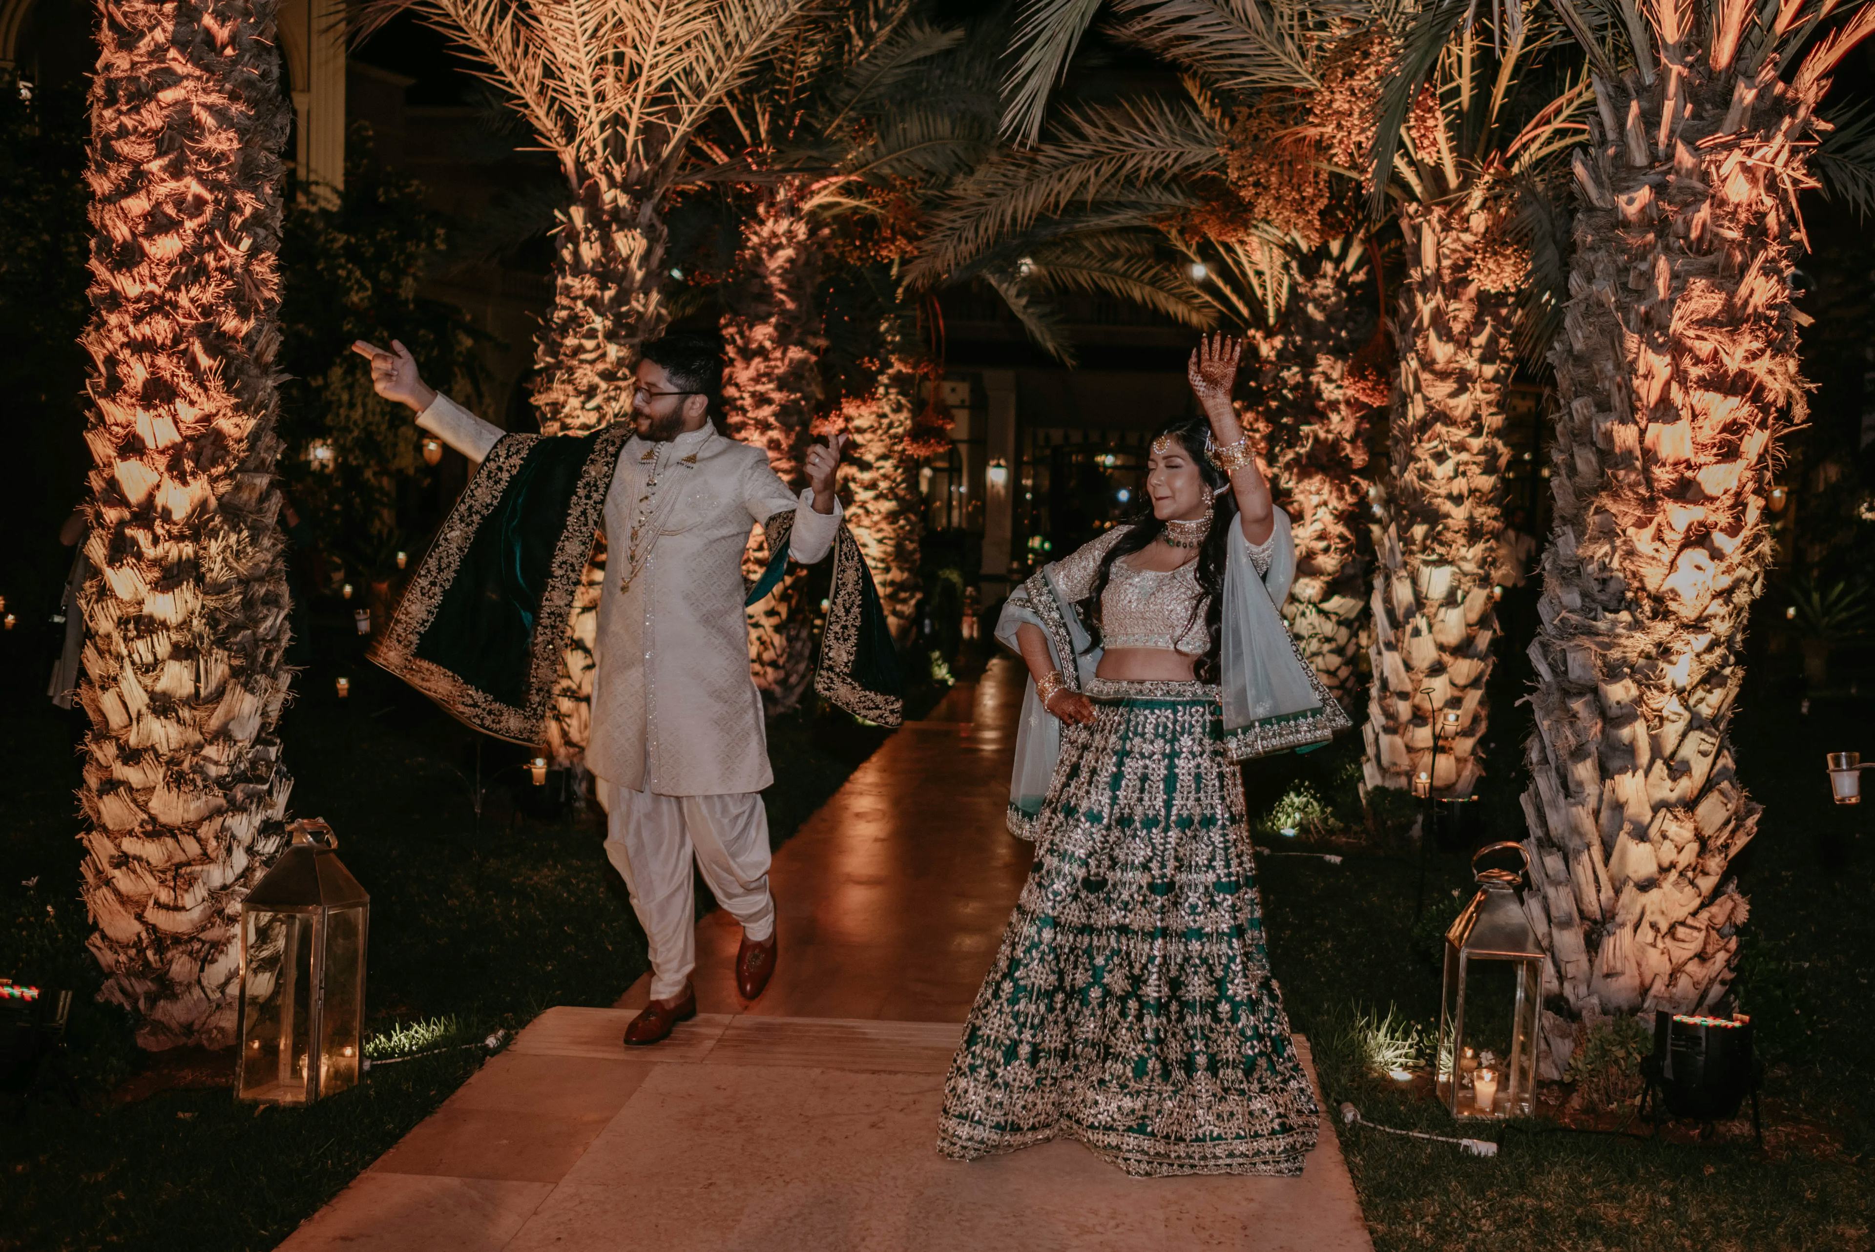
[[[630,437],[628,425],[578,439],[502,437],[424,553],[369,658],[478,731],[542,742],[574,594]],[[774,559],[748,604],[782,579],[793,521],[789,510],[763,523]],[[844,523],[832,562],[814,688],[859,718],[898,725],[898,652]]]

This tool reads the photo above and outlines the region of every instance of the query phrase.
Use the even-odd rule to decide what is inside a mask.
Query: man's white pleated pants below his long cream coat
[[[656,795],[606,787],[606,857],[632,892],[651,945],[651,999],[682,993],[698,963],[692,858],[750,939],[774,933],[769,810],[759,791]]]

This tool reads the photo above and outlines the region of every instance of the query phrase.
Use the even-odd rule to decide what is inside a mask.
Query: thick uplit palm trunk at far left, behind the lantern
[[[274,485],[281,161],[270,0],[99,7],[92,81],[82,890],[144,1048],[232,1035],[236,902],[292,780]]]

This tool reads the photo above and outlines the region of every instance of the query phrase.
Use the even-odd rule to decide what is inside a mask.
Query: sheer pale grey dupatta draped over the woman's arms
[[[1271,540],[1258,545],[1264,547],[1271,549],[1269,570],[1258,574],[1243,527],[1230,527],[1217,695],[1222,705],[1224,750],[1234,761],[1322,744],[1350,725],[1348,714],[1301,658],[1277,611],[1296,579],[1296,544],[1282,510],[1275,514]],[[1101,648],[1088,647],[1088,628],[1061,587],[1063,564],[1042,566],[1009,596],[996,622],[996,637],[1020,650],[1016,630],[1024,624],[1039,628],[1067,688],[1080,692],[1101,663]],[[1022,697],[1016,765],[1009,783],[1012,834],[1035,838],[1035,819],[1059,759],[1061,722],[1042,708],[1031,686]]]

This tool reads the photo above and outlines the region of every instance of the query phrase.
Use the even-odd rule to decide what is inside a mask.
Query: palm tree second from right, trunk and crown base
[[[1586,101],[1545,66],[1552,45],[1521,4],[1481,13],[1438,0],[1404,30],[1372,26],[1339,52],[1350,82],[1386,71],[1371,186],[1376,206],[1393,201],[1406,253],[1372,587],[1371,787],[1425,780],[1432,795],[1464,797],[1481,774],[1509,461],[1504,392],[1530,281],[1517,191],[1581,131]]]

